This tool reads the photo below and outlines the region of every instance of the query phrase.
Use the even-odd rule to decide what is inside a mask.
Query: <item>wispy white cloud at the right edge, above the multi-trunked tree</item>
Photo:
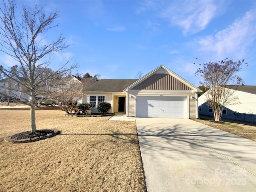
[[[228,28],[199,40],[200,51],[214,58],[241,59],[256,40],[256,10],[250,10]]]

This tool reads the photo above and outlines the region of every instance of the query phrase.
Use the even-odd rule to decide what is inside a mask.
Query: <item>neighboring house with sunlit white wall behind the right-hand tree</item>
[[[238,86],[232,97],[238,98],[238,104],[224,106],[222,119],[256,122],[256,86]],[[206,93],[198,98],[199,115],[214,116],[207,105]]]

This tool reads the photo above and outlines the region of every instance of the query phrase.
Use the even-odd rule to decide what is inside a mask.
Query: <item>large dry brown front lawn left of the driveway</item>
[[[36,111],[37,129],[60,135],[12,144],[4,137],[28,131],[30,111],[0,111],[0,191],[146,191],[135,122],[62,114]]]

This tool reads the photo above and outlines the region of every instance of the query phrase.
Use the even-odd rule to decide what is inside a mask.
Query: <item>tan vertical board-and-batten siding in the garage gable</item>
[[[192,90],[170,74],[153,74],[131,90]]]

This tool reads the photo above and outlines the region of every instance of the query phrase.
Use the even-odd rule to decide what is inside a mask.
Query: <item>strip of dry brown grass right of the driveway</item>
[[[256,126],[254,124],[241,124],[239,122],[228,122],[226,120],[222,120],[221,122],[214,122],[212,118],[206,117],[203,117],[202,119],[193,120],[250,139],[252,141],[256,141]]]

